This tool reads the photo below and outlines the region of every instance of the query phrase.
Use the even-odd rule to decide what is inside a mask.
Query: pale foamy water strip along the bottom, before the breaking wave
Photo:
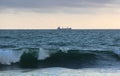
[[[2,71],[0,76],[120,76],[120,70],[46,68],[24,73],[22,70]]]

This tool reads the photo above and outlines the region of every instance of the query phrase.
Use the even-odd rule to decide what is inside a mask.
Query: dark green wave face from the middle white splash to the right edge
[[[40,67],[65,67],[65,68],[90,68],[114,66],[119,62],[119,54],[113,51],[88,51],[88,50],[62,50],[50,55],[50,57],[40,60]],[[102,63],[101,63],[102,62]]]

